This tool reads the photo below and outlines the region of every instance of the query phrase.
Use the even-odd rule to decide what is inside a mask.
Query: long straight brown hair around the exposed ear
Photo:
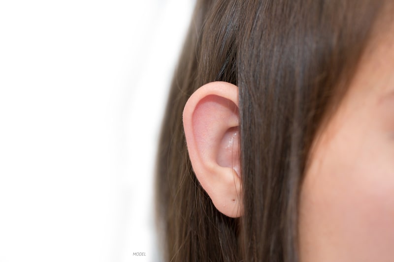
[[[383,1],[198,0],[160,138],[166,261],[297,262],[308,153],[357,68]],[[220,213],[188,157],[182,111],[202,85],[239,88],[244,215]]]

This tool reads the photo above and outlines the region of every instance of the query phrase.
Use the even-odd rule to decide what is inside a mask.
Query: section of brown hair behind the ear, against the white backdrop
[[[212,81],[236,83],[234,40],[241,1],[197,0],[163,119],[158,149],[156,208],[164,261],[238,261],[238,219],[214,206],[194,174],[182,125],[184,106],[199,87]],[[229,13],[230,10],[230,13]],[[205,25],[205,26],[203,26]],[[217,40],[202,37],[203,32]],[[223,35],[226,32],[226,36]],[[202,39],[204,38],[204,39]],[[218,41],[224,46],[216,48]],[[210,45],[210,48],[207,48]],[[209,54],[206,53],[207,50]],[[206,56],[209,61],[205,63]],[[204,62],[203,62],[204,61]]]

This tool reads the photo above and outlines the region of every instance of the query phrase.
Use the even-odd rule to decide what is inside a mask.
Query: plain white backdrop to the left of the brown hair
[[[0,262],[160,261],[154,160],[194,4],[0,1]]]

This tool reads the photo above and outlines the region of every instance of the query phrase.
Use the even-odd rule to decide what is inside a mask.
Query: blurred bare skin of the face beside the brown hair
[[[394,261],[394,40],[374,39],[315,140],[300,194],[301,262]]]

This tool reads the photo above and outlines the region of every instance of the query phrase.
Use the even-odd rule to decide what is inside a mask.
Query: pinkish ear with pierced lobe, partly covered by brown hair
[[[241,216],[238,87],[212,82],[198,88],[185,105],[183,125],[201,186],[220,212]]]

